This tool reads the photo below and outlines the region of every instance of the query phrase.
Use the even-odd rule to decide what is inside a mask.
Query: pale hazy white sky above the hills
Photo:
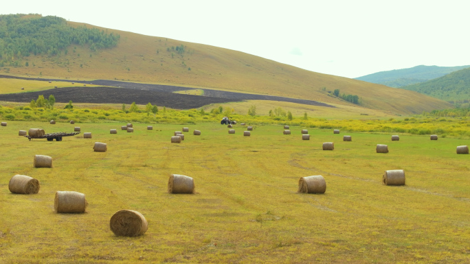
[[[470,64],[469,10],[469,0],[22,0],[0,6],[0,14],[60,16],[344,77]]]

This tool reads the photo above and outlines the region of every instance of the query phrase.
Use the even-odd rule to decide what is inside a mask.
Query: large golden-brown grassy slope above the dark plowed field
[[[117,46],[91,51],[87,45],[72,44],[57,55],[23,57],[21,64],[28,62],[28,67],[4,67],[1,73],[176,84],[352,105],[331,96],[339,89],[361,97],[363,107],[401,114],[451,107],[412,91],[306,71],[240,51],[96,28],[119,35]]]

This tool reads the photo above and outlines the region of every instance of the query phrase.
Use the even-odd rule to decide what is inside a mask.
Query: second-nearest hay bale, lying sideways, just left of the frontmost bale
[[[87,205],[85,194],[76,191],[57,191],[54,198],[56,213],[85,213]]]

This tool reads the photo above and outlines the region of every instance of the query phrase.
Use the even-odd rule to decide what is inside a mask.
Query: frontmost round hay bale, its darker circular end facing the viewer
[[[109,220],[109,228],[118,237],[138,237],[148,229],[144,215],[133,210],[121,210],[114,213]]]

